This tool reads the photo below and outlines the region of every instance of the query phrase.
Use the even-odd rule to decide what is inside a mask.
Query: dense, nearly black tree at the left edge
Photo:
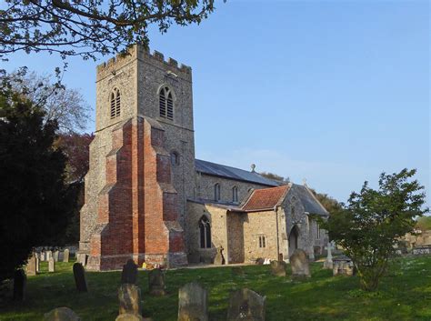
[[[65,155],[54,148],[54,120],[0,89],[0,280],[25,264],[34,246],[59,245],[75,204],[65,184]]]

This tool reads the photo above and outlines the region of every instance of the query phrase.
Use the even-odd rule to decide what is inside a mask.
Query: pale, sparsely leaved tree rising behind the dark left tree
[[[45,122],[56,120],[61,133],[73,133],[85,129],[90,107],[76,89],[66,88],[53,77],[28,73],[6,75],[14,92],[25,95],[45,111]]]

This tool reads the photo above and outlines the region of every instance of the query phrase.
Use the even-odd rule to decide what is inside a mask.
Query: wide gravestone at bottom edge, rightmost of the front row
[[[265,321],[266,296],[243,288],[232,293],[227,309],[227,321]]]

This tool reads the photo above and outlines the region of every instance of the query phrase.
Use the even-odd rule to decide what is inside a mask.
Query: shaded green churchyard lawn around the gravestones
[[[58,306],[72,308],[83,321],[115,320],[121,272],[87,273],[89,293],[75,291],[72,264],[58,263],[57,272],[29,276],[25,303],[0,306],[0,320],[42,320]],[[276,277],[269,266],[244,266],[168,271],[168,295],[148,294],[147,273],[139,272],[144,315],[155,321],[176,320],[178,287],[198,280],[209,290],[211,320],[225,320],[229,293],[248,287],[266,296],[266,320],[431,320],[431,256],[398,259],[376,293],[358,289],[358,278],[332,276],[321,263],[312,265],[305,281]]]

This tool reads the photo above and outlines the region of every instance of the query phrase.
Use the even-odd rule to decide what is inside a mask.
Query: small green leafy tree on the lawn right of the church
[[[415,169],[403,169],[392,175],[382,173],[378,189],[365,182],[360,193],[352,193],[346,206],[322,222],[330,239],[352,258],[361,287],[366,291],[376,290],[394,246],[413,231],[415,217],[428,212],[424,208],[424,186],[411,179],[415,174]]]

